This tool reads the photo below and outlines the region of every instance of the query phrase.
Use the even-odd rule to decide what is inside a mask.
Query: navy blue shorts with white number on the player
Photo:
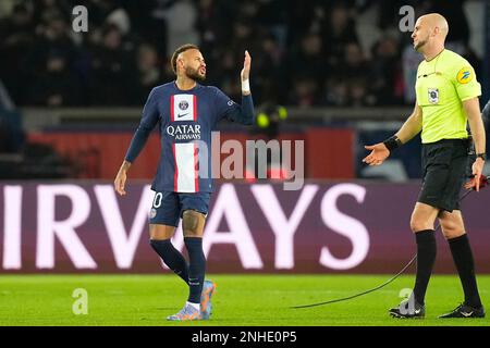
[[[151,204],[149,223],[176,227],[185,210],[195,210],[207,215],[210,198],[211,192],[156,192]]]

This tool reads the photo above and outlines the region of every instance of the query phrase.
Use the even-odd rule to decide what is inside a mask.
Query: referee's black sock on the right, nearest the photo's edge
[[[475,261],[473,259],[468,236],[464,234],[463,236],[448,239],[448,243],[465,293],[465,304],[475,308],[481,307],[475,276]]]

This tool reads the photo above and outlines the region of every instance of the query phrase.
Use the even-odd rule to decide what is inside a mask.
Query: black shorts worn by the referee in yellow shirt
[[[440,210],[460,210],[460,191],[468,162],[468,139],[422,145],[422,187],[417,201]]]

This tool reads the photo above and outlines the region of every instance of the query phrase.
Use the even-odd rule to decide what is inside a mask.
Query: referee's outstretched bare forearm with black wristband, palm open
[[[396,132],[396,134],[383,142],[365,146],[366,150],[371,150],[367,157],[363,159],[363,162],[369,165],[380,165],[390,156],[391,151],[401,147],[403,144],[409,141],[413,137],[420,133],[422,127],[422,114],[421,108],[415,103],[414,111],[406,119],[403,126]]]

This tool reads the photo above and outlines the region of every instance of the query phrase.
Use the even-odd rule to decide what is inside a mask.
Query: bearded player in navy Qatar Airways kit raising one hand
[[[205,281],[203,251],[203,232],[212,191],[211,132],[222,119],[254,124],[248,79],[250,63],[252,58],[245,51],[240,105],[217,87],[199,84],[206,78],[206,62],[197,46],[179,47],[171,60],[176,79],[155,87],[149,94],[139,126],[114,179],[115,190],[124,196],[127,171],[151,129],[159,124],[161,156],[151,185],[156,194],[149,220],[150,245],[189,288],[183,309],[168,320],[207,320],[211,313],[210,300],[216,285]],[[207,156],[203,157],[204,153]],[[180,219],[188,264],[171,243]]]

